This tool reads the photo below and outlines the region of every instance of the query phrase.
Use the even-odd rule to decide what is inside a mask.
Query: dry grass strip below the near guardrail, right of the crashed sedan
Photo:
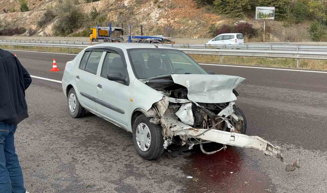
[[[199,63],[220,63],[220,56],[190,54]],[[237,64],[247,66],[265,66],[277,68],[296,68],[297,59],[267,58],[246,56],[223,56],[223,64]],[[327,60],[300,59],[301,69],[327,70]]]

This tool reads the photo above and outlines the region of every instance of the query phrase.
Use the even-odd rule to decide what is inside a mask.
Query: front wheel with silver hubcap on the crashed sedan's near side
[[[144,128],[143,131],[146,130],[146,127],[149,130],[149,136],[150,136],[150,145],[147,147],[144,146],[146,151],[141,149],[141,140],[145,140],[144,133],[139,132],[139,125]],[[145,127],[146,126],[146,127]],[[138,133],[138,135],[137,135]],[[145,132],[146,133],[146,132]],[[143,135],[143,138],[142,138]],[[140,137],[138,139],[138,137]],[[163,135],[162,135],[162,127],[160,124],[155,125],[150,122],[150,118],[147,118],[145,115],[140,115],[136,118],[134,124],[133,124],[133,143],[134,147],[136,149],[136,152],[144,159],[151,160],[151,159],[157,159],[159,158],[163,152]],[[141,147],[140,147],[141,146]]]

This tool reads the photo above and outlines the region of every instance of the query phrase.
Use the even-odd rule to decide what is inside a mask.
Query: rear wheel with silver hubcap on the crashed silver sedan
[[[85,108],[79,103],[75,89],[71,88],[67,96],[67,107],[69,114],[74,118],[83,117]]]

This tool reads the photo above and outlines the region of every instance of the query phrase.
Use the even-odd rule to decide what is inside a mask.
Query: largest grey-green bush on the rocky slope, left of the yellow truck
[[[56,36],[67,36],[80,28],[84,22],[83,13],[70,0],[58,4],[56,11],[58,20],[52,28]]]

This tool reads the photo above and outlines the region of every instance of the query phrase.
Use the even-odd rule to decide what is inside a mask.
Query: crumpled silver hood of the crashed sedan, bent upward
[[[176,84],[187,88],[187,97],[198,103],[226,103],[235,101],[233,89],[245,78],[215,74],[172,74]]]

